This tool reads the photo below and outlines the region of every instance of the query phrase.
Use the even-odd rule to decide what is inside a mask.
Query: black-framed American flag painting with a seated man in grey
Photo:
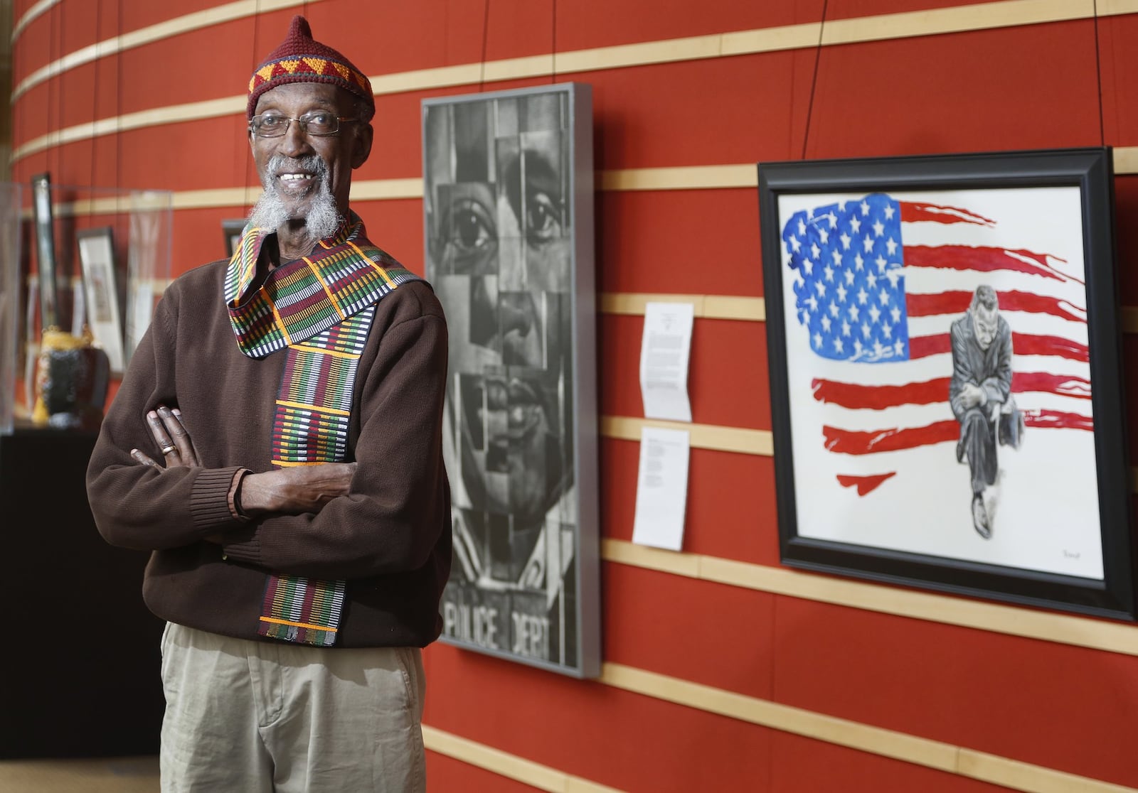
[[[758,175],[782,561],[1133,619],[1111,150]]]

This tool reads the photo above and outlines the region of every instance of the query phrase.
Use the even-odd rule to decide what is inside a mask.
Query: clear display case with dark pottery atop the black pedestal
[[[0,183],[0,434],[101,417],[170,281],[172,227],[170,191]]]

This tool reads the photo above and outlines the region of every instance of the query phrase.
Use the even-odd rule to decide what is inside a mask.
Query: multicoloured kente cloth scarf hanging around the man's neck
[[[399,284],[419,281],[368,242],[351,222],[312,254],[272,270],[246,294],[267,234],[246,226],[225,274],[225,303],[241,352],[264,358],[288,350],[277,396],[272,465],[338,462],[347,457],[356,368],[376,303]],[[269,575],[257,633],[329,646],[344,610],[343,581]]]

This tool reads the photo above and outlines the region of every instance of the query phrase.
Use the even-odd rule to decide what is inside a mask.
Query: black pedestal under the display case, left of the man
[[[158,752],[164,624],[142,603],[147,554],[94,527],[83,482],[94,439],[0,435],[2,758]]]

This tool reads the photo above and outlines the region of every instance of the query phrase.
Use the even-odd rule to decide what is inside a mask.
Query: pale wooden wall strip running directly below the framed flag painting
[[[860,581],[799,573],[782,567],[667,551],[624,540],[602,540],[601,558],[619,565],[819,603],[1038,638],[1123,656],[1138,656],[1138,626],[1125,623],[899,590]]]

